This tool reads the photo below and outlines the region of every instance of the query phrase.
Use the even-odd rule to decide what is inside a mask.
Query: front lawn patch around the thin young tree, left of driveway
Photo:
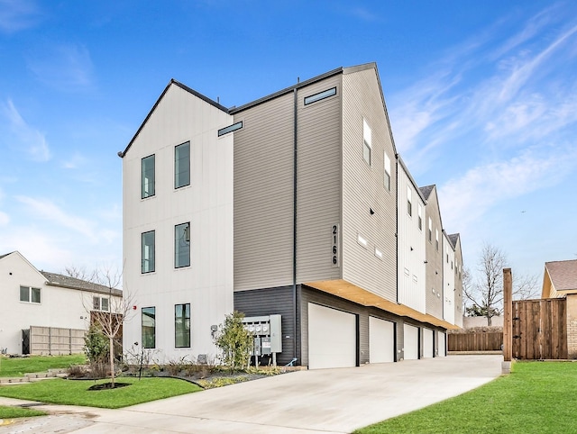
[[[130,383],[113,390],[89,391],[94,384],[109,383],[106,380],[65,380],[62,378],[42,380],[30,384],[0,386],[0,396],[55,404],[87,405],[117,409],[142,402],[155,401],[170,396],[202,390],[197,384],[176,378],[116,378],[116,383]]]

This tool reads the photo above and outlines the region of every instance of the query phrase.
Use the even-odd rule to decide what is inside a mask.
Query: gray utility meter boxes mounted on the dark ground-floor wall
[[[250,316],[243,318],[244,328],[254,336],[252,355],[272,356],[276,366],[276,355],[282,352],[281,315]],[[256,363],[255,363],[256,364]]]

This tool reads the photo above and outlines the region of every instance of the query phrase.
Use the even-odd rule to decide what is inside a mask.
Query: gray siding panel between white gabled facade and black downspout
[[[234,290],[292,285],[293,96],[234,114]]]

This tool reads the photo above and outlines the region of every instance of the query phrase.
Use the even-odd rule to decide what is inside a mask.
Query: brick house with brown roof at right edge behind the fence
[[[577,259],[545,262],[541,298],[564,298],[567,357],[577,358]]]

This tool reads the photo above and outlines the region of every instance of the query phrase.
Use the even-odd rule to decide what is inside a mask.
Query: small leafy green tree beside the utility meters
[[[226,315],[224,324],[218,326],[215,345],[221,350],[220,359],[229,366],[231,373],[235,369],[248,366],[252,350],[252,334],[244,328],[244,314],[234,311]]]

